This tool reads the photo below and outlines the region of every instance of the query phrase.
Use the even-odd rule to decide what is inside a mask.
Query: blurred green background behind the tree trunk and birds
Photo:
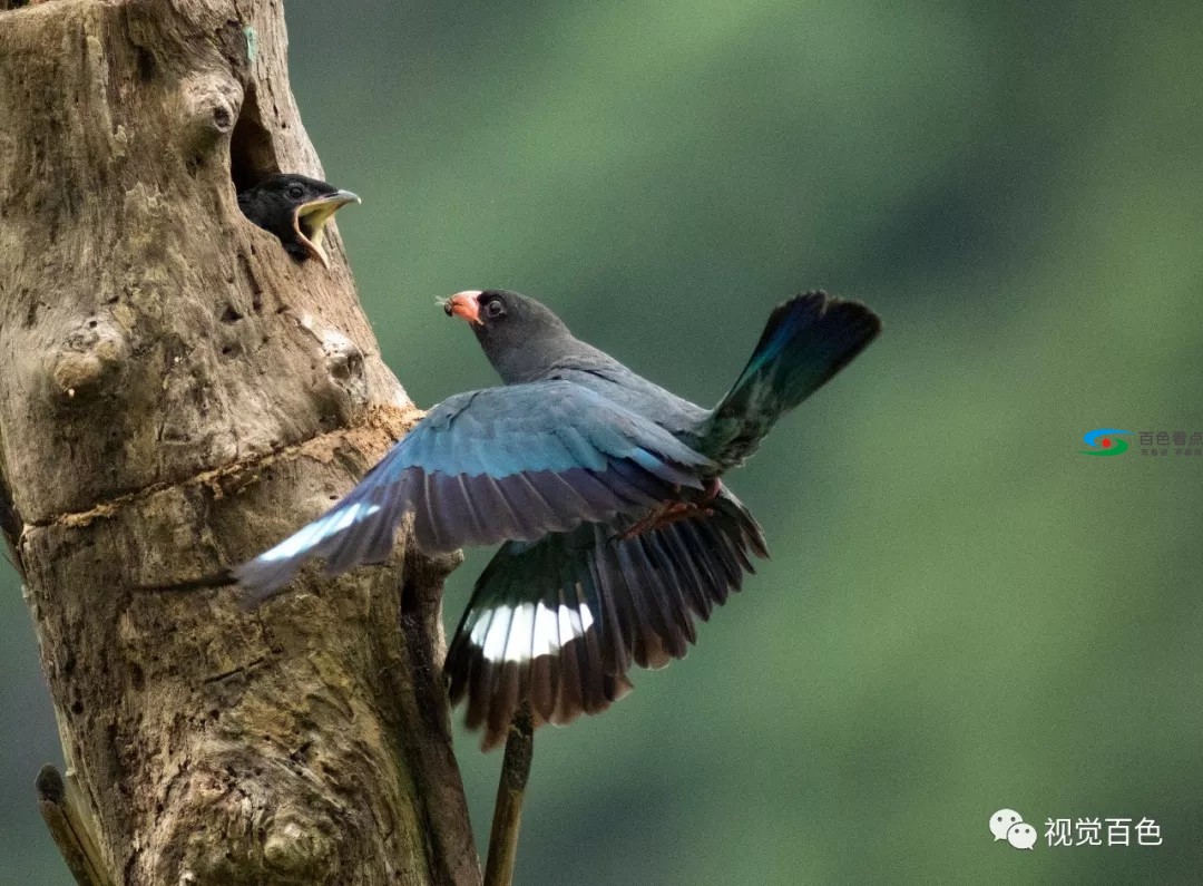
[[[493,377],[434,297],[506,287],[699,402],[824,287],[885,335],[733,485],[774,559],[689,657],[541,731],[522,884],[1198,882],[1197,4],[295,4],[292,84],[386,361]],[[1173,450],[1171,450],[1172,453]],[[485,555],[451,581],[451,626]],[[0,578],[0,881],[66,882]],[[499,755],[458,750],[478,838]],[[1041,841],[992,841],[1018,809]],[[1048,817],[1158,847],[1050,849]]]

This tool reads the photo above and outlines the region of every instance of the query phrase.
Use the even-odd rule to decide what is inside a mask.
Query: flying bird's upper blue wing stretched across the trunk
[[[325,515],[231,575],[261,598],[312,556],[326,557],[330,574],[379,562],[407,514],[429,554],[535,539],[700,489],[710,467],[653,421],[570,382],[460,394]]]

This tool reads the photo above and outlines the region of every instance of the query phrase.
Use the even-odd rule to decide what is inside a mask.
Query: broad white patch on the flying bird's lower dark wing
[[[539,601],[499,606],[484,613],[468,639],[484,652],[486,661],[527,662],[540,655],[556,655],[592,626],[593,613],[586,603],[551,609]]]

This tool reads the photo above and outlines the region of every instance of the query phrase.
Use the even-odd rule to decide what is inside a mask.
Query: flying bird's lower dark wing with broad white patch
[[[663,667],[697,639],[745,572],[768,556],[764,536],[725,489],[707,510],[626,537],[634,519],[586,524],[497,551],[476,581],[448,650],[451,703],[487,750],[529,699],[535,722],[597,714],[629,689],[632,662]]]

